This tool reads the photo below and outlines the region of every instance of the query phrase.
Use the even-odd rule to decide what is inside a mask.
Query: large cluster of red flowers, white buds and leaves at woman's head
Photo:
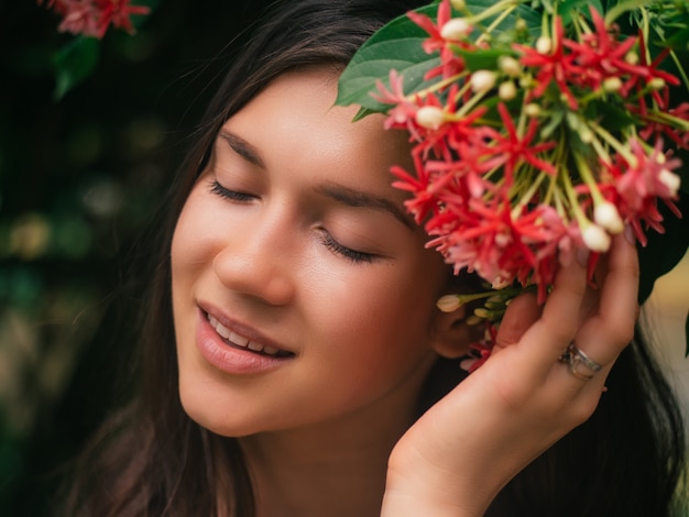
[[[576,254],[593,282],[611,235],[627,226],[645,246],[648,230],[665,232],[664,211],[681,217],[688,7],[442,0],[384,26],[342,75],[338,103],[409,133],[414,170],[393,167],[393,185],[411,194],[428,246],[492,287],[439,304],[486,298],[472,367],[521,290],[543,302]],[[689,241],[686,228],[679,235],[661,250],[672,264]],[[645,282],[667,271],[642,265]]]

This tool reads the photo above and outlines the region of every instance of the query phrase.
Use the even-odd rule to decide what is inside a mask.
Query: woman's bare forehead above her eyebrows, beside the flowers
[[[223,130],[255,147],[266,168],[329,172],[404,199],[404,193],[390,186],[390,167],[411,168],[406,133],[384,130],[381,114],[352,122],[357,107],[333,106],[337,79],[325,68],[284,74],[231,117]]]

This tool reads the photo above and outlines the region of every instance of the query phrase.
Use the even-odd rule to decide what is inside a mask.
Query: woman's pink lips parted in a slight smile
[[[216,320],[214,323],[217,326],[218,321]],[[274,343],[266,342],[265,339],[258,337],[255,331],[239,323],[222,319],[222,324],[225,327],[223,333],[227,333],[229,329],[232,334],[237,334],[234,340],[239,344],[232,344],[231,340],[223,339],[209,321],[206,310],[198,310],[196,344],[204,359],[222,372],[234,375],[265,373],[278,369],[284,365],[285,361],[294,356],[293,353],[280,349]],[[247,343],[248,340],[249,343]],[[261,349],[271,353],[263,352]]]

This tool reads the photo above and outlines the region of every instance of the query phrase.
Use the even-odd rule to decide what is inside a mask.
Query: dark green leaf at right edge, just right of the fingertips
[[[648,244],[645,248],[637,246],[641,266],[639,304],[646,301],[656,279],[675,267],[689,248],[689,196],[681,196],[676,205],[685,217],[677,218],[664,204],[660,204],[658,209],[665,218],[663,221],[665,233],[649,231]]]

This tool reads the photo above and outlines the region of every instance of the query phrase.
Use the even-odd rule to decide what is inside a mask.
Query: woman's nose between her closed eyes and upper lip
[[[287,305],[295,293],[296,224],[278,211],[259,211],[228,228],[214,258],[223,286],[273,306]]]

